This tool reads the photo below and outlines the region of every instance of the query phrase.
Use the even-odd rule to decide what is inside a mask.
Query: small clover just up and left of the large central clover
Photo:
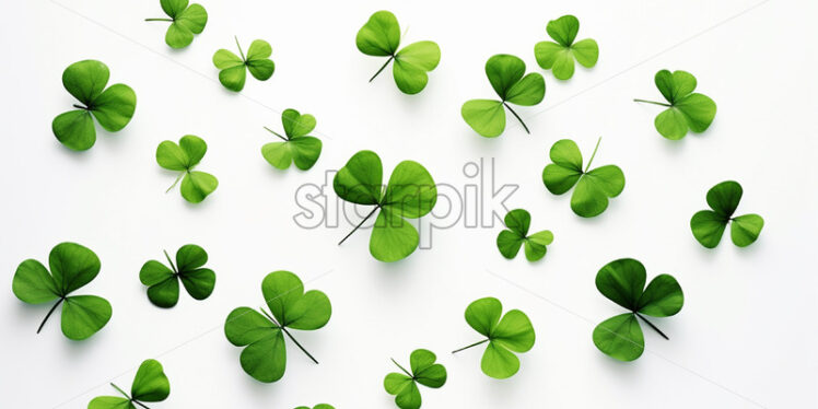
[[[295,109],[285,109],[281,113],[281,124],[287,137],[265,127],[283,142],[265,144],[261,147],[261,155],[280,170],[290,167],[292,162],[302,171],[313,167],[320,156],[322,149],[320,139],[307,135],[315,129],[315,117],[309,114],[301,115]]]

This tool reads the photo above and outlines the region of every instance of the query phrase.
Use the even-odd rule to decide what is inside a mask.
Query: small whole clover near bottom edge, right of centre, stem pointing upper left
[[[432,351],[416,349],[409,355],[411,372],[400,366],[394,359],[392,362],[404,373],[392,372],[384,378],[384,389],[395,395],[395,405],[400,409],[420,408],[420,389],[418,384],[430,388],[439,388],[446,383],[446,369],[434,363],[437,358]]]

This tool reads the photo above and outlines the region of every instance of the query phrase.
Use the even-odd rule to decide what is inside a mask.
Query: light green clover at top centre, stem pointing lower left
[[[395,14],[378,11],[358,31],[355,45],[367,56],[389,59],[370,79],[370,82],[395,60],[392,67],[393,77],[398,89],[405,94],[417,94],[426,86],[429,75],[441,61],[441,48],[434,42],[417,42],[402,49],[400,46],[400,26]]]

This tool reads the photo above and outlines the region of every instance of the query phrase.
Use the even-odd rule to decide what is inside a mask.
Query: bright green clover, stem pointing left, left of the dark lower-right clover
[[[519,359],[513,352],[527,352],[534,347],[534,327],[528,316],[512,309],[500,319],[503,305],[500,300],[486,297],[466,308],[466,323],[486,337],[482,341],[452,351],[457,353],[489,342],[480,362],[483,373],[498,379],[511,377],[519,371]]]

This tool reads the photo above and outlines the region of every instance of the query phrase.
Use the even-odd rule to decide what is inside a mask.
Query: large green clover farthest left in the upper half
[[[108,86],[108,67],[96,60],[74,62],[62,72],[62,85],[82,105],[57,115],[51,131],[57,140],[74,151],[91,149],[96,142],[96,128],[92,116],[108,132],[125,128],[137,109],[137,94],[130,86]]]

